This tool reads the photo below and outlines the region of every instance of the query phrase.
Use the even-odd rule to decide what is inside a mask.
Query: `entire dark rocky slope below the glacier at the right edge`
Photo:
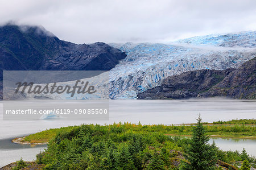
[[[167,77],[160,86],[138,94],[138,99],[228,97],[255,99],[256,57],[238,69],[198,70]]]

